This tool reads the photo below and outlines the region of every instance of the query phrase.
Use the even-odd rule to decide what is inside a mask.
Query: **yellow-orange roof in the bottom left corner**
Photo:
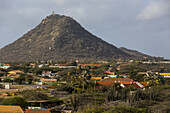
[[[0,113],[24,113],[20,106],[0,105]]]

